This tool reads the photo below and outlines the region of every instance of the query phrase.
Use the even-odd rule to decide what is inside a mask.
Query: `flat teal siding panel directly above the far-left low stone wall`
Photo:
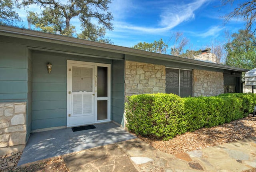
[[[0,102],[27,101],[26,46],[0,42]]]

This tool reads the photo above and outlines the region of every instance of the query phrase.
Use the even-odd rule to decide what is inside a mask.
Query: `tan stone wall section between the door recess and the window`
[[[125,62],[125,98],[133,94],[165,92],[165,66]]]

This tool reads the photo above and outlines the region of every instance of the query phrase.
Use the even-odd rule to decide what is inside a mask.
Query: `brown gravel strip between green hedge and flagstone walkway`
[[[180,154],[255,136],[256,117],[250,116],[228,124],[186,132],[168,141],[139,137],[157,150],[168,154]]]

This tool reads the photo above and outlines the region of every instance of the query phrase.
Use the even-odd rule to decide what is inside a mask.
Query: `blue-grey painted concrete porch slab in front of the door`
[[[71,128],[30,135],[18,166],[107,144],[136,138],[114,123],[95,124],[95,129],[72,132]]]

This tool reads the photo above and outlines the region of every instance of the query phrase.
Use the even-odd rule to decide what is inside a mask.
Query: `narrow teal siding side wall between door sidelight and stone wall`
[[[124,60],[112,61],[111,119],[124,125]]]

